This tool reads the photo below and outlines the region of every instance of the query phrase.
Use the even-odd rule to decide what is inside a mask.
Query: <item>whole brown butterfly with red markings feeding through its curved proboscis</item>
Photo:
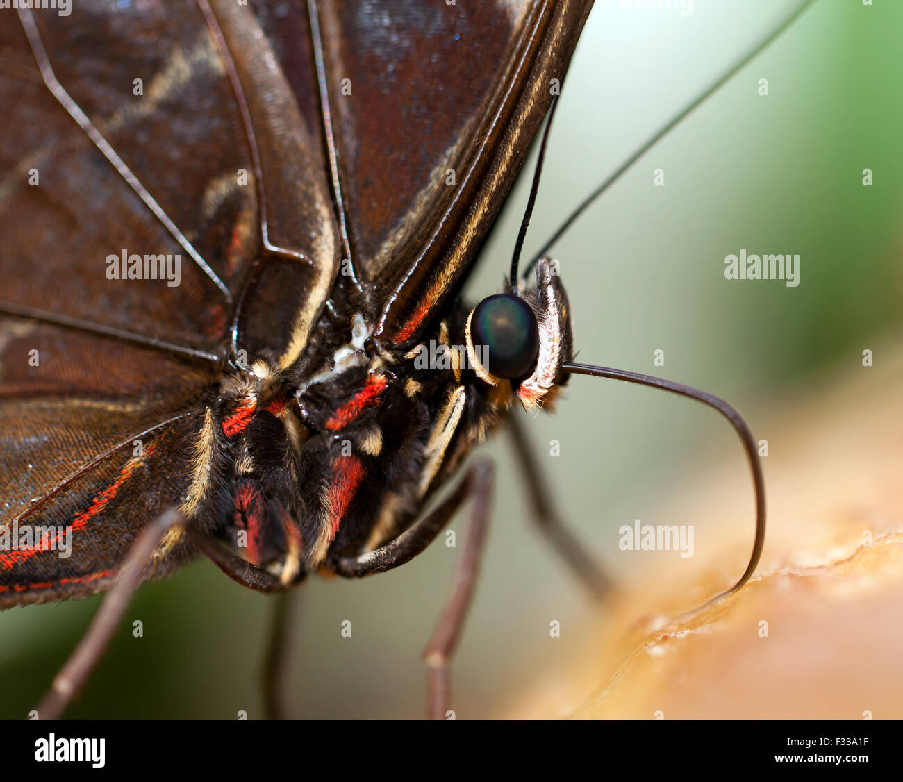
[[[5,25],[23,144],[0,153],[0,607],[109,591],[42,717],[140,582],[198,555],[257,591],[362,577],[467,507],[426,652],[444,717],[493,481],[465,457],[575,374],[730,420],[757,510],[724,593],[749,578],[765,530],[749,428],[718,397],[573,361],[558,265],[518,265],[538,176],[504,289],[461,300],[590,6],[120,0]],[[554,544],[604,593],[521,453]]]

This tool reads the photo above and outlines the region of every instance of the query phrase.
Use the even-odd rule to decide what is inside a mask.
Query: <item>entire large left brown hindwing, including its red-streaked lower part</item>
[[[184,497],[230,324],[291,357],[339,257],[320,117],[247,6],[77,10],[0,27],[0,538],[72,531],[0,546],[0,607],[107,586]],[[121,249],[181,254],[179,284],[109,279]]]

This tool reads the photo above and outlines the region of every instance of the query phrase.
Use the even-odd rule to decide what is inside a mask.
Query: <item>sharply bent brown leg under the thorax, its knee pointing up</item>
[[[452,594],[445,603],[442,617],[424,649],[427,666],[427,715],[444,720],[449,705],[449,659],[461,638],[464,619],[470,608],[479,571],[479,559],[489,526],[489,505],[492,498],[494,468],[490,461],[480,459],[471,464],[442,505],[409,527],[395,540],[358,557],[340,557],[333,564],[339,575],[360,577],[381,573],[410,562],[433,542],[455,511],[472,498],[470,532],[461,554],[461,562],[454,575]]]

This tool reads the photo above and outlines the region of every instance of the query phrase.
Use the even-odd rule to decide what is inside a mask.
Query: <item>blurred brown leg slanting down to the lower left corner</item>
[[[56,720],[79,693],[88,676],[97,666],[107,649],[110,638],[126,613],[135,590],[144,580],[144,568],[147,561],[157,550],[157,546],[172,528],[185,525],[182,512],[172,508],[146,526],[138,536],[126,560],[119,571],[116,586],[110,590],[100,603],[100,607],[91,619],[85,635],[79,645],[53,678],[48,694],[38,704],[38,716],[42,720]]]

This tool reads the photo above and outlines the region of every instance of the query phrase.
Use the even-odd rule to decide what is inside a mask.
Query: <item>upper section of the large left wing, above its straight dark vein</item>
[[[19,140],[0,149],[0,309],[212,351],[265,247],[323,303],[339,251],[319,115],[309,130],[247,5],[20,15],[0,31]],[[179,284],[108,279],[124,251],[181,256]]]

